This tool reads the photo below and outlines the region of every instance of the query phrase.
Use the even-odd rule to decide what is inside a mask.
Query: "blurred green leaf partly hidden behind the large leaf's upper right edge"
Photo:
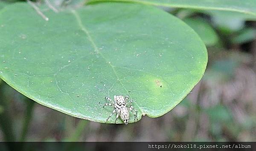
[[[183,21],[198,33],[207,46],[215,45],[218,42],[218,35],[206,20],[186,18]]]

